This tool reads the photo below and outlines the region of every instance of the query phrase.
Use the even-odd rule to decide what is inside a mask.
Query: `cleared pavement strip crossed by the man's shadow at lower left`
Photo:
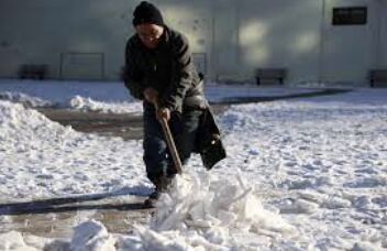
[[[128,233],[133,225],[146,223],[154,209],[144,197],[75,196],[0,205],[0,233],[11,230],[48,238],[70,238],[84,220],[103,222],[109,232]]]

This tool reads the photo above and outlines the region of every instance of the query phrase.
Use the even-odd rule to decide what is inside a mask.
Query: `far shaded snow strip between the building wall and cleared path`
[[[210,101],[220,102],[235,97],[272,97],[313,92],[317,88],[256,88],[244,85],[206,84]],[[134,100],[123,83],[59,81],[0,79],[0,100],[21,102],[25,107],[57,107],[111,113],[141,113],[141,102]]]

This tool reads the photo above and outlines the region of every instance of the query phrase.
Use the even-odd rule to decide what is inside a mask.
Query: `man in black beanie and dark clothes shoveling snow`
[[[134,34],[126,43],[123,78],[131,95],[144,100],[144,162],[155,185],[147,204],[166,190],[178,166],[167,148],[159,121],[167,121],[185,164],[201,153],[207,168],[225,157],[203,94],[203,80],[192,63],[187,39],[164,24],[161,11],[141,2],[133,13]],[[167,126],[168,127],[168,126]]]

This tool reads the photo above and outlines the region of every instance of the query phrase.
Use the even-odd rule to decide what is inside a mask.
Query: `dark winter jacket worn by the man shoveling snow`
[[[188,41],[167,26],[154,50],[146,48],[137,34],[129,39],[123,79],[137,99],[144,98],[145,88],[153,87],[159,94],[159,106],[170,110],[181,111],[183,106],[202,106],[204,101]]]

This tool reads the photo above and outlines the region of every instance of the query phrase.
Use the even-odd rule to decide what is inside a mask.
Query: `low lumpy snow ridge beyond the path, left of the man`
[[[139,113],[143,111],[141,101],[136,102],[101,102],[91,98],[75,96],[68,101],[68,106],[75,110],[97,111],[103,113]]]

